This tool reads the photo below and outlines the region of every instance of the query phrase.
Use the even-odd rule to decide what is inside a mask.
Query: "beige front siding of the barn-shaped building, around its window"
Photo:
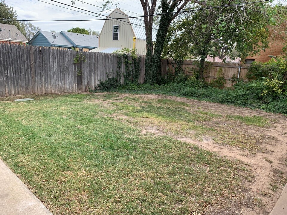
[[[115,13],[117,12],[117,13]],[[127,17],[120,10],[115,9],[115,12],[112,12],[109,17],[110,18],[124,18]],[[103,26],[103,29],[100,33],[99,37],[99,47],[127,47],[132,48],[133,37],[135,34],[133,33],[132,27],[129,23],[129,19],[121,20],[106,20]],[[119,25],[119,40],[113,40],[113,26]]]

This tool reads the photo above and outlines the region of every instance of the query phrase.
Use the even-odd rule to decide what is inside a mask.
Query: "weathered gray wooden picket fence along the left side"
[[[76,54],[73,50],[1,43],[0,97],[86,92],[94,90],[100,80],[107,80],[108,74],[116,77],[117,54],[83,52],[86,62],[74,64]],[[139,82],[143,83],[144,57],[140,68]],[[77,75],[79,71],[81,74]],[[124,62],[119,72],[123,83]]]

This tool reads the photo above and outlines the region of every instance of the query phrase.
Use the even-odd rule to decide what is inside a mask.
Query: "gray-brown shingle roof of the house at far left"
[[[15,25],[0,23],[0,28],[2,30],[0,32],[0,39],[28,42],[26,37],[19,31],[19,29]]]

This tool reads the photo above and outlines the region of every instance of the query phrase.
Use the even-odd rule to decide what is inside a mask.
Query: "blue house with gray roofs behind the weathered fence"
[[[87,34],[71,33],[67,31],[50,32],[39,30],[28,42],[29,45],[55,47],[55,48],[78,48],[81,51],[89,51],[98,47],[99,38]]]

